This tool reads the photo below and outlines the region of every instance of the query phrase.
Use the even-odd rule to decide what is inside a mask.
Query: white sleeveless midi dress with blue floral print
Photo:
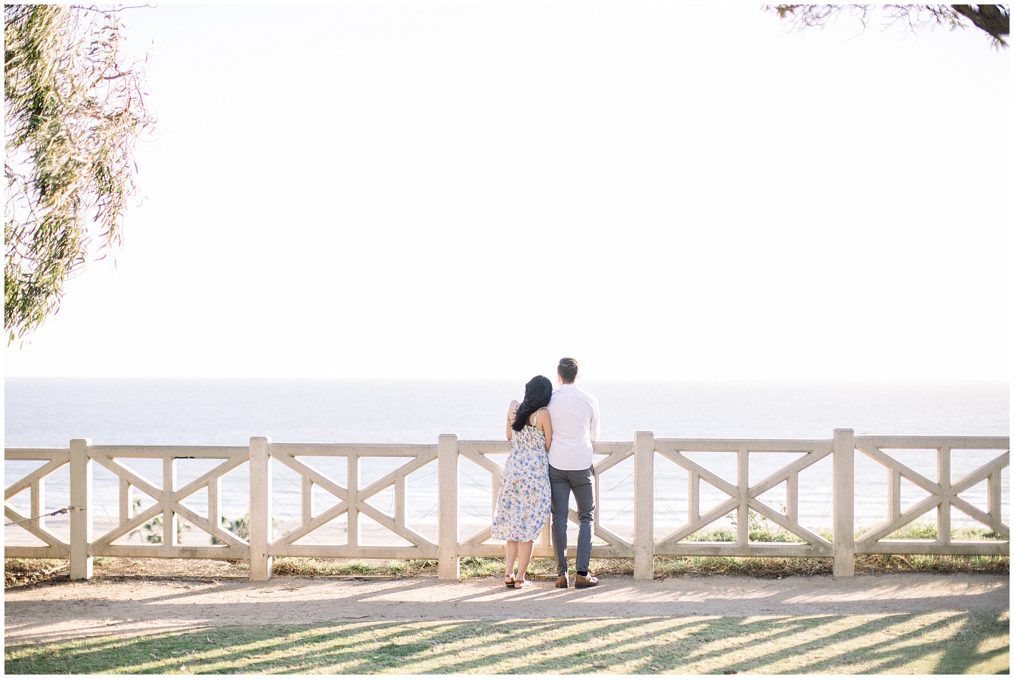
[[[525,424],[513,435],[514,445],[500,479],[493,514],[493,537],[528,542],[542,532],[550,518],[550,462],[546,434]]]

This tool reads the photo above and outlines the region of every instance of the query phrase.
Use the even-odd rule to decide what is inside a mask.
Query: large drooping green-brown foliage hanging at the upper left
[[[153,125],[122,40],[117,10],[4,6],[8,344],[59,311],[93,240],[120,244],[134,145]]]

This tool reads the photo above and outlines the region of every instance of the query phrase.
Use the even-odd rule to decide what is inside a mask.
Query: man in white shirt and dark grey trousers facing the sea
[[[553,442],[550,444],[550,489],[553,494],[553,547],[557,552],[557,587],[567,588],[567,514],[570,494],[577,501],[581,528],[577,534],[577,576],[574,587],[598,585],[588,573],[591,558],[591,523],[595,519],[595,470],[591,466],[591,443],[598,438],[598,401],[574,386],[577,361],[561,358],[557,366],[560,388],[550,401]]]

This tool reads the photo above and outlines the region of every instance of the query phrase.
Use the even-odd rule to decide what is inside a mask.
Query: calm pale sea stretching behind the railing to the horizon
[[[738,383],[738,382],[586,382],[581,387],[598,398],[603,440],[632,440],[638,430],[658,437],[706,438],[829,438],[836,427],[851,427],[857,434],[967,434],[1008,435],[1009,386],[1006,382],[979,383]],[[463,439],[500,439],[507,403],[523,395],[523,380],[506,381],[365,381],[365,380],[42,380],[5,381],[5,446],[66,447],[71,438],[89,437],[95,445],[210,445],[245,446],[251,435],[269,435],[275,442],[409,443],[435,444],[440,433],[457,433]],[[958,479],[995,453],[954,453],[952,478]],[[735,479],[732,454],[690,455],[724,478]],[[753,454],[750,478],[763,478],[794,456]],[[896,457],[931,480],[936,479],[933,452],[914,451]],[[682,524],[686,518],[686,474],[656,456],[656,524],[659,533]],[[404,461],[403,461],[404,462]],[[502,463],[502,460],[500,460]],[[160,484],[159,463],[127,463]],[[183,485],[215,463],[179,461]],[[310,464],[344,484],[344,461],[314,459]],[[379,478],[399,463],[364,460],[361,486]],[[886,515],[887,472],[857,454],[857,526],[872,526]],[[5,463],[6,485],[38,466]],[[466,460],[461,463],[462,537],[489,522],[489,473]],[[828,528],[830,460],[825,459],[800,475],[800,523],[813,529]],[[248,508],[245,466],[223,480],[223,514],[242,516]],[[1009,516],[1008,476],[1004,475],[1004,516]],[[633,460],[613,467],[599,479],[602,493],[599,521],[624,536],[632,532]],[[55,510],[68,502],[66,471],[47,481],[46,506]],[[276,529],[291,529],[299,516],[299,478],[275,465],[274,513]],[[117,515],[116,477],[95,469],[96,532]],[[423,535],[435,535],[436,474],[430,465],[409,477],[408,519]],[[902,487],[902,507],[925,496],[916,486]],[[962,494],[986,508],[985,483]],[[141,506],[152,503],[136,493]],[[702,512],[726,495],[702,485]],[[335,498],[318,490],[316,512]],[[762,496],[777,507],[784,500],[784,486]],[[371,500],[391,513],[390,489]],[[27,512],[27,493],[15,497],[15,506]],[[206,514],[205,493],[187,503]],[[103,521],[103,515],[107,521]],[[370,522],[361,516],[369,533]],[[964,515],[952,512],[955,523]],[[929,515],[926,520],[932,520]],[[52,520],[58,535],[65,521]],[[722,525],[719,522],[717,525]],[[341,534],[344,521],[300,543],[331,542],[321,536]],[[8,544],[24,542],[23,531],[7,529]],[[185,536],[185,543],[206,538]],[[375,532],[380,536],[382,531]],[[135,538],[136,539],[136,538]],[[401,544],[379,538],[376,544]]]

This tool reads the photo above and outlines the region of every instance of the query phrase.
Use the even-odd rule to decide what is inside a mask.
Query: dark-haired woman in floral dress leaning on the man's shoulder
[[[531,585],[524,579],[531,559],[532,541],[550,517],[550,463],[553,443],[550,405],[553,383],[540,375],[524,386],[524,400],[511,401],[507,409],[507,440],[513,440],[500,495],[493,515],[493,537],[507,541],[507,574],[504,585],[520,590]],[[514,560],[517,574],[514,576]]]

